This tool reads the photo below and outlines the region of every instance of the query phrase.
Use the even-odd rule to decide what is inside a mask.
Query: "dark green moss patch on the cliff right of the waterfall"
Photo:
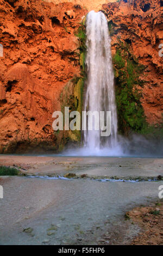
[[[140,102],[143,81],[139,78],[145,66],[138,63],[130,53],[129,46],[121,41],[117,44],[116,54],[112,60],[116,78],[119,131],[122,133],[128,133],[130,130],[140,132],[146,124]]]

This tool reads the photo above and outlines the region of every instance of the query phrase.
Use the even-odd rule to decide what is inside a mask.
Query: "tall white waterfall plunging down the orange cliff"
[[[112,69],[111,39],[105,15],[90,11],[86,20],[87,87],[84,111],[111,111],[111,135],[101,137],[101,131],[84,131],[84,146],[92,154],[103,148],[117,147],[117,111]]]

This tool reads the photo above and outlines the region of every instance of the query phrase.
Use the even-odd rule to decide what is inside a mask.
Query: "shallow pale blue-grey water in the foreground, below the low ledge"
[[[104,233],[112,236],[118,224],[126,225],[127,210],[157,198],[160,184],[7,178],[0,202],[0,244],[99,244]],[[30,233],[23,231],[28,228]],[[139,230],[126,228],[122,243]]]

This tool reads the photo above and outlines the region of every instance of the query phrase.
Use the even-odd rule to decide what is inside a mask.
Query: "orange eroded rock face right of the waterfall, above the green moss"
[[[146,81],[141,98],[148,123],[159,123],[163,111],[163,57],[159,45],[163,43],[162,1],[128,0],[103,5],[112,24],[112,54],[118,38],[127,42],[140,64],[146,66],[141,79]]]

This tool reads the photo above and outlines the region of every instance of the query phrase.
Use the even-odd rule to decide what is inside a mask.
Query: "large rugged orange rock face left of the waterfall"
[[[86,10],[41,0],[3,0],[0,9],[0,152],[58,149],[52,113],[80,73],[74,34]]]

